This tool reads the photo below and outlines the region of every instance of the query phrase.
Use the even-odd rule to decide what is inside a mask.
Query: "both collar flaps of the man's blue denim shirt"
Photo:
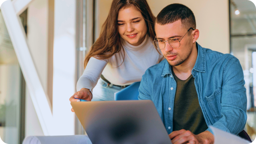
[[[197,42],[196,42],[196,48],[197,48],[197,58],[196,58],[196,64],[194,65],[194,68],[192,70],[193,76],[195,74],[194,70],[198,72],[205,72],[205,53],[206,52],[202,48],[202,46],[200,46]],[[172,75],[172,66],[165,59],[162,76],[165,76],[166,74]]]

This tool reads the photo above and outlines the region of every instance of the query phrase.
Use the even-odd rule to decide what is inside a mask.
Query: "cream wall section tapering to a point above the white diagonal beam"
[[[28,7],[28,46],[44,91],[47,93],[48,0],[33,0]]]

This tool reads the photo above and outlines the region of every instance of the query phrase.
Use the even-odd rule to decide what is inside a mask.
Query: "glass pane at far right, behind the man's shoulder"
[[[236,10],[240,14],[236,14]],[[256,138],[256,7],[250,0],[230,0],[230,52],[244,70],[247,96],[245,131]]]

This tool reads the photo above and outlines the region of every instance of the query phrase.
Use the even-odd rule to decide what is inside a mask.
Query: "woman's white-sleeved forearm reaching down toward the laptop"
[[[80,91],[82,88],[87,88],[92,92],[107,63],[108,60],[98,60],[94,57],[90,58],[84,73],[76,84],[76,91]]]

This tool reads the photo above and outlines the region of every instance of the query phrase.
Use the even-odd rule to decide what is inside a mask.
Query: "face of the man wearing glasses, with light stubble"
[[[177,20],[171,24],[155,25],[157,40],[169,40],[169,38],[181,38],[186,34],[188,30],[182,27],[181,21]],[[190,30],[192,31],[192,30]],[[180,41],[180,47],[172,48],[170,44],[165,42],[165,48],[162,49],[162,54],[171,66],[178,66],[182,64],[190,56],[193,47],[192,34],[186,34]]]

